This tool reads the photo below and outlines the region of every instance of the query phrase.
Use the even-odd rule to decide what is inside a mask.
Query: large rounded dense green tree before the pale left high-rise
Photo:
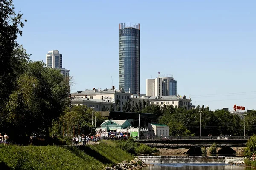
[[[52,122],[69,105],[68,93],[69,82],[60,71],[43,62],[29,62],[6,105],[7,121],[16,135],[36,132],[49,136]]]

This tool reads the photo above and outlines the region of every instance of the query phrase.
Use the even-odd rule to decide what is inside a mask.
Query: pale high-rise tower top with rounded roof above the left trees
[[[46,54],[46,66],[62,68],[62,54],[60,54],[58,50],[48,51]]]

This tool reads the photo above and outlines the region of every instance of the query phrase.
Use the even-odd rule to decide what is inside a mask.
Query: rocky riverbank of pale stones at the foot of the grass
[[[111,167],[106,167],[103,170],[135,170],[142,167],[148,167],[151,164],[145,164],[138,158],[129,161],[122,161],[122,163],[113,164]]]

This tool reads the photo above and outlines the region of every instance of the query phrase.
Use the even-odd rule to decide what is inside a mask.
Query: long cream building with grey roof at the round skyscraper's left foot
[[[115,86],[113,86],[112,89],[101,90],[99,88],[98,89],[93,88],[93,90],[77,91],[75,93],[70,94],[71,99],[75,97],[75,98],[84,98],[85,100],[89,99],[88,101],[91,101],[91,102],[96,102],[96,100],[91,100],[91,99],[97,99],[97,101],[99,101],[99,102],[107,101],[108,103],[110,103],[109,105],[111,105],[111,103],[114,105],[115,110],[116,110],[117,103],[120,102],[121,111],[123,111],[123,106],[124,106],[125,102],[128,99],[130,99],[130,96],[131,96],[131,94],[126,93],[123,89],[116,90]],[[71,100],[71,103],[73,104],[72,100]],[[88,101],[86,101],[86,102],[88,102]],[[90,104],[90,105],[93,105],[93,104]],[[108,104],[106,104],[106,105],[108,105]],[[104,107],[103,107],[103,109],[104,109]],[[100,110],[101,110],[101,108],[100,108]]]

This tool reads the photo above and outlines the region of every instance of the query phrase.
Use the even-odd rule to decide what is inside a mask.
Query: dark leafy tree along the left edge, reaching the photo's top
[[[24,66],[29,59],[26,50],[17,43],[18,35],[22,36],[19,27],[26,20],[22,14],[15,13],[12,0],[1,0],[0,3],[0,107],[3,108],[9,95],[15,89],[16,79],[23,74]],[[2,110],[2,109],[1,109]]]

